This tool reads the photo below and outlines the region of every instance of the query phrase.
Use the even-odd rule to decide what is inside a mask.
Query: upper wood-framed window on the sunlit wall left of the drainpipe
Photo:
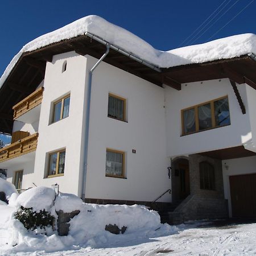
[[[62,98],[61,100],[54,103],[53,106],[53,119],[52,122],[55,123],[60,119],[66,118],[69,115],[69,102],[70,95]]]

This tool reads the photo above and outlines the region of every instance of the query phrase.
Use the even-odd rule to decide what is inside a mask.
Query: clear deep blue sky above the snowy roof
[[[204,43],[247,32],[256,34],[255,10],[253,0],[1,1],[0,76],[24,44],[86,15],[102,16],[166,51],[186,43]]]

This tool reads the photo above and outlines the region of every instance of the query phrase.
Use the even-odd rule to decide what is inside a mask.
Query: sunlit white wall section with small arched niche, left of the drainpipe
[[[67,70],[62,72],[67,60]],[[39,121],[34,182],[37,185],[59,184],[61,192],[78,195],[81,169],[82,120],[84,110],[86,58],[75,52],[53,56],[47,63]],[[69,117],[51,123],[53,101],[71,95]],[[66,149],[64,176],[47,178],[48,153]]]

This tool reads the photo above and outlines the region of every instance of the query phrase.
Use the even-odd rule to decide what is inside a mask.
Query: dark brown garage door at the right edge
[[[256,174],[229,177],[233,217],[256,217]]]

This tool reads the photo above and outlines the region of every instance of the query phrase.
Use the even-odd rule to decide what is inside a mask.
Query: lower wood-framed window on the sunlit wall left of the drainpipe
[[[61,150],[49,154],[48,177],[64,175],[65,153],[65,150]]]

